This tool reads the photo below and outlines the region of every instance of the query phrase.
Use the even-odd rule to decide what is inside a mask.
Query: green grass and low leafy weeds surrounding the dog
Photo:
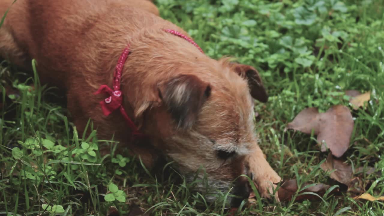
[[[344,90],[371,91],[367,109],[353,111],[351,147],[343,159],[354,167],[383,171],[383,3],[156,2],[161,16],[188,30],[207,55],[237,56],[259,69],[270,95],[268,103],[256,106],[259,145],[280,176],[296,178],[299,185],[325,183],[340,190],[312,201],[244,202],[237,215],[382,215],[383,202],[354,200],[356,194],[319,168],[327,155],[313,136],[284,129],[306,107],[351,108],[343,100]],[[0,76],[0,214],[105,215],[109,206],[117,206],[127,215],[133,204],[152,215],[226,214],[222,202],[205,203],[172,169],[159,169],[155,176],[125,152],[116,153],[118,143],[98,140],[91,122],[90,136],[78,134],[62,98],[40,86],[36,71],[23,73],[2,61]],[[105,149],[110,153],[101,156]],[[363,188],[374,196],[382,196],[383,180],[381,173],[361,177]]]

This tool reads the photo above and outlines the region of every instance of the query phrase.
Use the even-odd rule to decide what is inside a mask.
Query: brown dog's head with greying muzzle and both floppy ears
[[[257,145],[254,99],[266,102],[268,96],[252,66],[200,56],[182,63],[161,56],[162,63],[151,67],[156,72],[138,81],[146,89],[136,90],[129,103],[153,146],[187,180],[202,167],[211,189],[233,185],[232,192],[246,198],[248,180],[238,177],[251,175],[245,158]]]

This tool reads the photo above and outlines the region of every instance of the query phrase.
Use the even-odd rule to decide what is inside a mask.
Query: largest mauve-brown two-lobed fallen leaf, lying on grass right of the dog
[[[321,151],[328,147],[336,157],[348,150],[353,126],[351,111],[343,105],[332,106],[325,113],[319,113],[317,108],[307,108],[287,124],[288,129],[307,134],[313,130],[318,143],[321,143]]]

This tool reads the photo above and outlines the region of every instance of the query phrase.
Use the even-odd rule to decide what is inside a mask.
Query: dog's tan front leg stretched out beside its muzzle
[[[276,184],[281,181],[280,176],[273,170],[265,160],[264,154],[258,145],[255,145],[253,152],[247,156],[246,160],[249,164],[249,171],[252,173],[253,181],[258,187],[260,196],[264,198],[270,198],[270,194],[273,194],[273,190],[276,188]],[[277,191],[275,198],[278,201]]]

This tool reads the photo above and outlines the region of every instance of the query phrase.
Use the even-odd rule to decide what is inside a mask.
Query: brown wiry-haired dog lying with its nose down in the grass
[[[0,15],[12,2],[0,0]],[[157,15],[147,0],[20,0],[0,29],[0,55],[25,68],[35,58],[41,81],[67,94],[79,130],[91,118],[99,138],[114,135],[147,166],[164,157],[175,161],[187,180],[202,166],[211,188],[221,191],[247,174],[268,197],[280,177],[255,136],[252,97],[268,99],[258,72],[200,53],[165,32],[186,35]],[[121,113],[104,116],[99,101],[105,95],[93,94],[101,85],[112,86],[114,68],[128,44],[123,105],[149,142],[130,142],[132,131]],[[246,198],[247,185],[238,178],[232,192]]]

